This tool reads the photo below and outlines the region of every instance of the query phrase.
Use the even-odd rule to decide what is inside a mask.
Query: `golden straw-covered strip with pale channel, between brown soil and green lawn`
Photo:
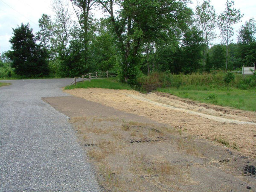
[[[209,140],[224,141],[242,154],[256,157],[256,113],[177,99],[166,93],[141,94],[133,90],[65,90],[120,111],[180,127]],[[221,110],[223,109],[223,110]],[[223,142],[222,142],[223,143]]]

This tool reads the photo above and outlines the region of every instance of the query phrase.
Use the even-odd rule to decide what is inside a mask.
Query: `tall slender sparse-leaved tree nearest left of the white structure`
[[[226,10],[224,10],[224,12],[222,12],[218,17],[218,26],[221,30],[221,38],[226,44],[226,70],[228,64],[228,45],[232,42],[231,38],[234,35],[234,29],[232,26],[238,23],[243,17],[240,10],[234,9],[232,6],[234,6],[234,2],[227,0]]]

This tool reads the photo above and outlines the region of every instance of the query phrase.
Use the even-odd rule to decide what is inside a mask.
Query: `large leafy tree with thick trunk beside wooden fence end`
[[[129,84],[136,84],[141,63],[141,47],[160,38],[171,26],[183,21],[186,0],[99,0],[108,13],[121,55],[121,76]],[[118,6],[118,12],[114,12]]]

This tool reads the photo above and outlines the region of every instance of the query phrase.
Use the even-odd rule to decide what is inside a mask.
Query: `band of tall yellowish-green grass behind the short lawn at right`
[[[180,86],[209,86],[219,87],[226,86],[224,82],[225,73],[193,73],[191,75],[174,75],[171,73],[151,73],[149,76],[143,76],[138,79],[141,84],[163,84],[163,87],[180,87]],[[235,80],[230,84],[231,87],[239,89],[249,89],[256,87],[256,76],[236,75]]]

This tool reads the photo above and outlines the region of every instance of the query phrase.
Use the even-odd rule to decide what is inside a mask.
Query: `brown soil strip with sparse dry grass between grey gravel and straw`
[[[124,102],[134,100],[123,98]],[[255,159],[193,136],[181,124],[159,123],[74,96],[44,101],[70,116],[80,144],[95,165],[102,191],[240,192],[247,187],[256,191],[255,175],[244,171],[245,165],[256,166]],[[155,106],[157,113],[162,107],[148,105]]]

